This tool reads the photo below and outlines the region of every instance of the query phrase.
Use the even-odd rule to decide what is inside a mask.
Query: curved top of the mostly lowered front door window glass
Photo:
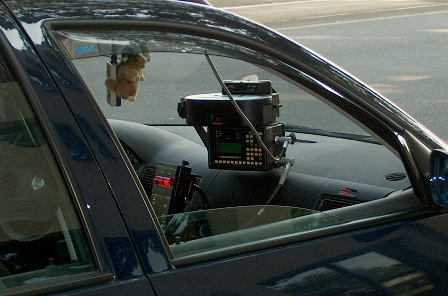
[[[321,212],[284,206],[232,207],[158,219],[177,258],[277,239],[342,221]]]

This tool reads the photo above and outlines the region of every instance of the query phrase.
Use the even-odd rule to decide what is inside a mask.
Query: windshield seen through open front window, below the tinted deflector
[[[94,33],[89,33],[89,36],[91,35]],[[150,33],[148,35],[152,37]],[[102,56],[86,58],[84,52],[75,54],[77,59],[74,59],[73,63],[107,118],[152,125],[185,124],[185,120],[180,118],[177,112],[177,104],[181,98],[194,94],[221,92],[221,86],[205,58],[205,49],[192,48],[189,43],[174,43],[171,39],[166,40],[165,38],[168,38],[166,36],[157,37],[162,38],[162,41],[152,39],[147,41],[144,47],[149,50],[147,52],[149,61],[143,69],[145,80],[139,82],[138,104],[136,102],[129,104],[130,102],[122,100],[119,108],[111,107],[107,103],[104,79],[96,78],[105,78],[105,65],[111,60],[111,55],[105,52]],[[288,126],[306,126],[325,131],[366,135],[366,132],[354,122],[307,91],[278,74],[269,72],[268,68],[242,60],[247,58],[242,53],[229,53],[225,48],[218,52],[213,45],[204,44],[204,46],[207,46],[206,51],[213,54],[211,54],[213,62],[224,80],[272,82],[272,87],[279,94],[282,104],[277,122],[284,122]],[[100,54],[100,52],[94,53]],[[121,55],[118,55],[118,62],[120,57]],[[261,55],[258,55],[257,59],[255,62],[272,63],[270,60],[264,61]],[[285,69],[285,71],[291,70]]]

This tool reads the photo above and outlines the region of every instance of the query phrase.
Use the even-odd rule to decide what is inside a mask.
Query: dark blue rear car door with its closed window
[[[78,122],[0,10],[0,294],[154,295]]]

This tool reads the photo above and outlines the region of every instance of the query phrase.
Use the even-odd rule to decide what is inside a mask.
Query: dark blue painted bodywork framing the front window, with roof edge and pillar
[[[57,9],[51,1],[5,2],[21,26],[2,8],[0,27],[12,45],[8,53],[45,123],[66,178],[76,181],[72,185],[101,255],[101,271],[114,277],[99,286],[61,295],[446,293],[448,259],[440,251],[448,243],[447,214],[430,210],[434,205],[428,197],[427,180],[430,151],[446,145],[362,82],[293,41],[212,7],[176,1],[94,2],[98,9],[92,13],[90,1],[59,3]],[[324,93],[324,88],[316,92],[333,98],[330,104],[341,110],[356,109],[351,116],[381,135],[382,142],[404,159],[414,192],[409,189],[403,200],[409,200],[413,211],[406,212],[403,206],[402,213],[297,235],[278,245],[273,242],[270,248],[241,250],[202,262],[173,260],[114,129],[48,35],[48,28],[63,28],[73,20],[82,26],[129,23],[135,28],[182,29],[239,40],[313,75],[344,99],[328,90]],[[15,36],[20,36],[20,46],[15,45]],[[362,205],[358,208],[362,210]]]

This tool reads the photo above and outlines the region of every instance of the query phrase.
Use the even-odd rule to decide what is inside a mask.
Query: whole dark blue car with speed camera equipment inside
[[[199,3],[0,9],[0,295],[448,293],[447,145],[358,79]]]

